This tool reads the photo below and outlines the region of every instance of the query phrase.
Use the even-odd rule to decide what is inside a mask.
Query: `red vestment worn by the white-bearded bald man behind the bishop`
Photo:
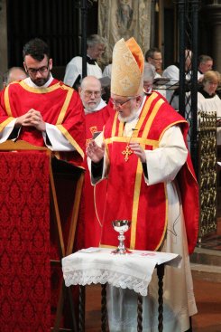
[[[102,131],[106,120],[115,110],[109,106],[86,115],[86,146],[97,131]],[[97,247],[100,242],[102,217],[106,199],[106,180],[96,186],[91,185],[85,158],[85,247]]]

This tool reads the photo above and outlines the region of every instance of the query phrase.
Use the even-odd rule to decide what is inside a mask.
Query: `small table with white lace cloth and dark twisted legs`
[[[106,331],[106,283],[122,289],[134,289],[138,294],[137,330],[142,331],[142,297],[148,296],[152,273],[157,269],[159,278],[159,326],[163,328],[163,273],[164,265],[178,267],[180,256],[158,251],[132,251],[130,254],[113,254],[110,248],[87,248],[62,259],[65,284],[80,285],[80,312],[78,331],[84,331],[85,291],[84,286],[102,285],[101,330]]]

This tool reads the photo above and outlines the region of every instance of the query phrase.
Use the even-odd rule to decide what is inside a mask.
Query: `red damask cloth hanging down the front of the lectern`
[[[0,153],[1,332],[51,329],[49,157]]]

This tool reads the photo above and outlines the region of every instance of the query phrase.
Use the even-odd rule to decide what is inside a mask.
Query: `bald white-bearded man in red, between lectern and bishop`
[[[94,135],[103,130],[106,120],[114,112],[101,98],[101,83],[95,76],[85,77],[78,89],[86,114],[86,146]],[[106,194],[106,183],[102,182],[95,188],[90,183],[90,175],[85,158],[85,247],[97,247],[102,229],[102,208]],[[98,202],[98,205],[96,204]]]

